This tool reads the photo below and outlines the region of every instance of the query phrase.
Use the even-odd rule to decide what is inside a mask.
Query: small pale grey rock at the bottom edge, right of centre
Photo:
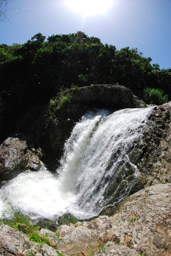
[[[134,249],[129,249],[126,246],[115,245],[114,242],[107,242],[102,251],[97,251],[93,256],[137,256]]]

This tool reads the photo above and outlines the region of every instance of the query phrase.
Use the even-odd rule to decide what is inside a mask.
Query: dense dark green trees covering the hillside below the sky
[[[36,104],[44,104],[64,88],[91,84],[120,84],[142,98],[145,87],[170,95],[171,69],[151,65],[137,49],[116,50],[79,31],[41,33],[25,44],[0,45],[0,112],[3,122],[16,123]],[[15,119],[15,120],[14,120]]]

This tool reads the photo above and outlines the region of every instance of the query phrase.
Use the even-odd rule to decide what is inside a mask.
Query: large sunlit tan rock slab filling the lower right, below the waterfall
[[[125,248],[128,247],[133,249],[132,252],[136,251],[137,255],[145,252],[146,256],[169,256],[170,199],[171,184],[140,190],[120,202],[113,216],[99,216],[92,221],[84,221],[82,226],[81,223],[79,226],[76,223],[76,227],[60,226],[58,231],[65,235],[60,248],[66,250],[67,254],[76,254],[82,250],[87,255],[87,246],[95,251],[95,247],[99,248],[99,242],[105,244],[112,241],[115,246],[110,248],[115,254],[111,255],[131,255],[131,250]],[[125,254],[119,254],[119,250],[123,249]]]

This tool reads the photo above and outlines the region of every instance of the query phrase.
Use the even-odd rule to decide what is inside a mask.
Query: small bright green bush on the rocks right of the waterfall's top
[[[148,104],[161,105],[168,102],[168,95],[163,95],[160,89],[144,88],[144,100]]]

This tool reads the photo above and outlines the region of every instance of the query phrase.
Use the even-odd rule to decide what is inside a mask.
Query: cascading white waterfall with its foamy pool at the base
[[[57,174],[46,167],[19,174],[1,188],[1,210],[7,208],[8,198],[33,218],[57,218],[70,212],[86,219],[96,216],[112,197],[119,200],[128,195],[139,175],[129,152],[141,142],[150,112],[151,108],[123,109],[110,115],[105,110],[86,113],[65,143]],[[132,179],[129,184],[127,176]]]

